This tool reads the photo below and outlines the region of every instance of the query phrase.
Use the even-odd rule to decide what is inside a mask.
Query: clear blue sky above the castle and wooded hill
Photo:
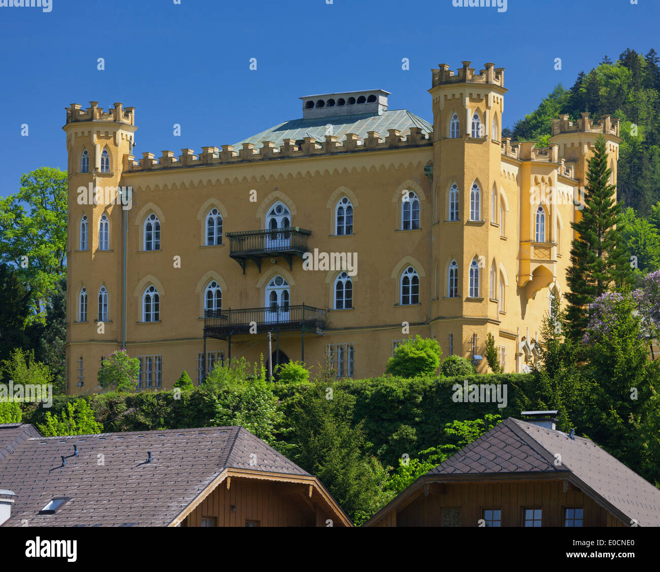
[[[159,157],[302,117],[298,98],[310,94],[380,88],[390,109],[431,121],[430,69],[463,60],[506,68],[511,126],[605,54],[660,52],[657,0],[508,0],[503,13],[452,0],[327,1],[51,0],[44,13],[0,0],[0,196],[22,173],[65,169],[70,103],[136,107],[135,155]]]

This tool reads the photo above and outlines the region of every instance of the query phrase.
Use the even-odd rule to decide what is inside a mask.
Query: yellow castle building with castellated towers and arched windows
[[[302,119],[236,145],[135,160],[135,109],[67,107],[67,382],[99,391],[125,349],[140,387],[199,383],[221,360],[329,358],[383,373],[402,340],[506,372],[537,354],[566,291],[598,136],[616,183],[618,120],[552,121],[548,148],[502,136],[504,69],[432,70],[433,124],[389,93],[306,96]]]

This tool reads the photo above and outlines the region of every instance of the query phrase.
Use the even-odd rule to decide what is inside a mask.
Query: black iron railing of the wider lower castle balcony
[[[325,329],[325,310],[300,304],[299,306],[279,306],[267,308],[240,308],[239,310],[206,310],[204,331],[209,337],[225,338],[228,335],[251,333],[250,328],[257,324],[261,330],[300,330],[321,333]]]

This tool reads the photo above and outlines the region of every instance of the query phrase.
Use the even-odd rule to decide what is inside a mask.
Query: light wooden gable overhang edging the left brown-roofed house
[[[209,496],[220,484],[226,482],[227,488],[231,486],[232,477],[251,480],[266,480],[268,482],[280,482],[299,484],[308,487],[306,495],[311,501],[321,505],[323,509],[334,519],[341,522],[345,527],[354,526],[347,514],[341,509],[337,501],[325,490],[321,482],[313,475],[296,475],[281,472],[253,471],[250,469],[223,469],[207,486],[201,491],[167,526],[177,527],[185,518],[191,514],[207,496]]]

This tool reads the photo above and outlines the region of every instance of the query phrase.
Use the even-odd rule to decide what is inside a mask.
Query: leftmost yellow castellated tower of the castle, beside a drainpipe
[[[125,165],[133,159],[134,108],[115,103],[103,111],[98,102],[90,101],[84,111],[72,104],[63,129],[69,156],[67,378],[75,384],[86,369],[86,379],[94,379],[96,386],[100,360],[121,348],[125,327],[123,210],[117,188]],[[83,352],[77,351],[83,346],[84,360]],[[96,351],[90,353],[90,346]]]

